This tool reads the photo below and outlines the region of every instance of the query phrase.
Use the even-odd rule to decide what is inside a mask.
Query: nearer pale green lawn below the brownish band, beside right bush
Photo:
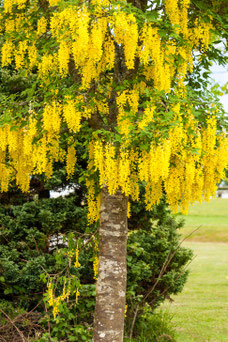
[[[173,315],[178,342],[228,341],[228,245],[186,242],[195,259],[182,294],[164,306]]]

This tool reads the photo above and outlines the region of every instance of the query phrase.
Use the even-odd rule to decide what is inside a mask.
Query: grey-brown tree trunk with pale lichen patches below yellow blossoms
[[[94,342],[122,342],[126,294],[127,197],[101,192]]]

